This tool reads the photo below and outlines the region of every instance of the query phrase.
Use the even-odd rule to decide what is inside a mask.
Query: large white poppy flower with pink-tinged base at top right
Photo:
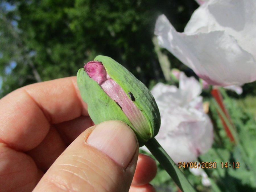
[[[183,33],[160,15],[155,35],[161,47],[209,84],[241,85],[256,80],[256,1],[209,0]]]

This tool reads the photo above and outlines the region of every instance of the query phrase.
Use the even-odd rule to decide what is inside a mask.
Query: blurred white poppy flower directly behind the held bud
[[[196,161],[213,141],[213,127],[203,111],[199,82],[181,72],[179,88],[158,83],[151,92],[161,115],[156,140],[176,164]],[[148,151],[146,147],[142,149]]]

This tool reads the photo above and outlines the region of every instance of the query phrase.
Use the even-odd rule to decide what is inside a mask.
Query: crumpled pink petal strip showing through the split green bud
[[[106,94],[123,110],[136,131],[142,137],[147,138],[150,128],[146,118],[119,84],[110,78],[102,63],[90,61],[85,65],[84,69],[89,77],[97,81]]]

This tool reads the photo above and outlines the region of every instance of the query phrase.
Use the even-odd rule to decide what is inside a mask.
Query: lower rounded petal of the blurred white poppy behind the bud
[[[174,162],[196,161],[211,147],[213,128],[203,112],[176,107],[160,114],[162,125],[155,138]]]

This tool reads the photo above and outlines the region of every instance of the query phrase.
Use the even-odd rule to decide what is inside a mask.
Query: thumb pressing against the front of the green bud
[[[129,191],[138,153],[130,127],[105,121],[79,135],[34,191]]]

